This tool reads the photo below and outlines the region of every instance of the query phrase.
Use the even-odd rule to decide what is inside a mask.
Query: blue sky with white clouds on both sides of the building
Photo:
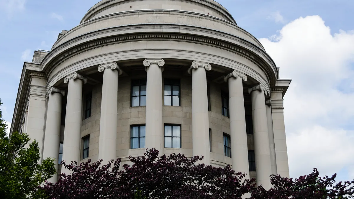
[[[50,50],[98,0],[0,0],[0,98],[9,124],[24,61]],[[284,97],[290,177],[354,178],[353,0],[218,0],[292,79]]]

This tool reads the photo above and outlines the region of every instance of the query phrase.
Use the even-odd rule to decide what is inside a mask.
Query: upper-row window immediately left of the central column
[[[132,80],[131,106],[146,106],[146,79]]]

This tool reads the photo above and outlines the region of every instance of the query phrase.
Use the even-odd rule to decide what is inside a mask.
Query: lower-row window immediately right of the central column
[[[165,125],[165,148],[181,148],[181,126]]]

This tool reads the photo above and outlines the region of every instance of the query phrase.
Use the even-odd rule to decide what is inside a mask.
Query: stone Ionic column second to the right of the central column
[[[248,165],[245,103],[242,80],[247,81],[247,76],[236,70],[224,78],[225,82],[229,82],[232,169],[236,172],[246,173],[245,178],[249,179],[250,170]]]

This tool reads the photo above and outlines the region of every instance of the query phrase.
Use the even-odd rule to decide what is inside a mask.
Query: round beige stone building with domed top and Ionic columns
[[[270,187],[289,177],[283,97],[291,80],[213,0],[102,0],[25,62],[11,132],[60,164],[203,155]],[[57,181],[57,176],[50,179]]]

